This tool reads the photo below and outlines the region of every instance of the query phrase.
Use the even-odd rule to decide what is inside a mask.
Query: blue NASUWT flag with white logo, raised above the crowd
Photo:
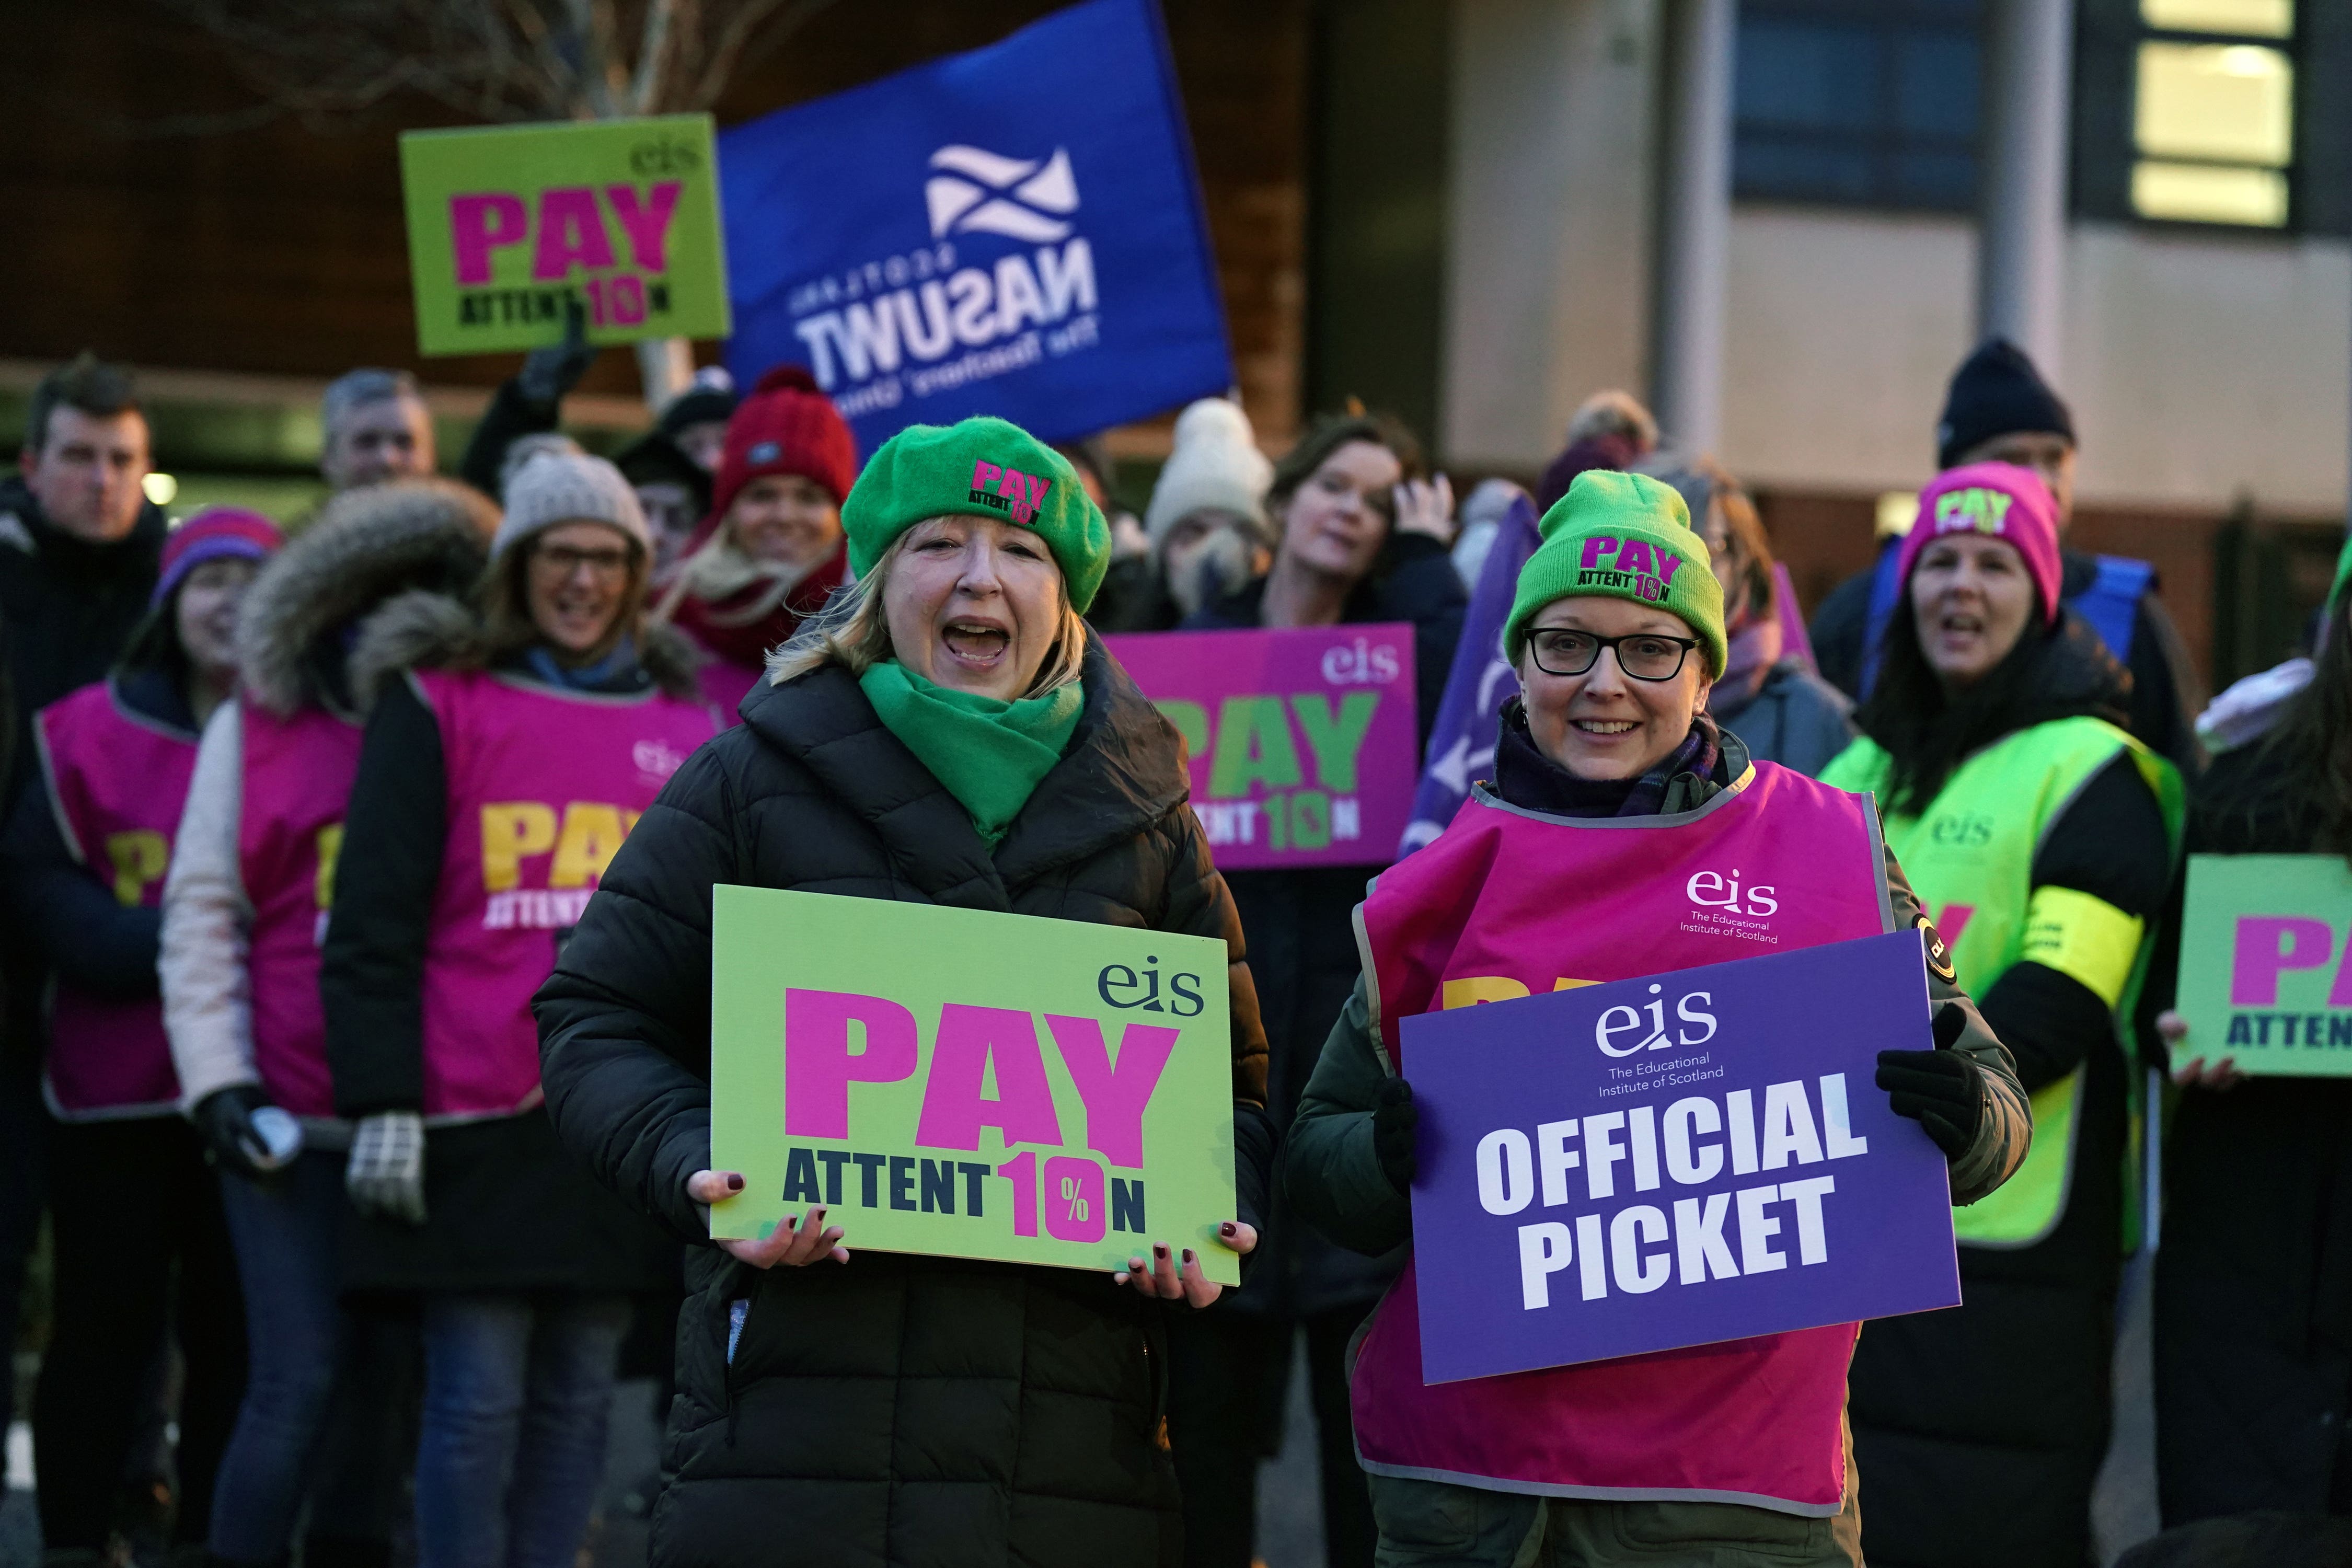
[[[739,125],[720,176],[736,381],[807,364],[863,451],[969,414],[1070,440],[1232,386],[1152,0]]]

